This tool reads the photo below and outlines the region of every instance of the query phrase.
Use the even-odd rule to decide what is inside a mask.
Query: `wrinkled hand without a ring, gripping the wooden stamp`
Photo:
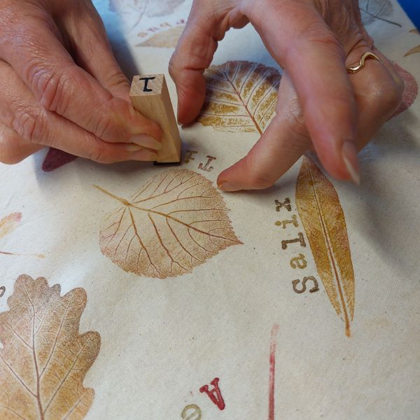
[[[156,159],[162,131],[132,108],[90,0],[3,0],[0,33],[1,162],[44,146],[104,163]]]

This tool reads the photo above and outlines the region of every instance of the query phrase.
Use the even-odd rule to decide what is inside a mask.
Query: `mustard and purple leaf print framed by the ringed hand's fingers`
[[[220,131],[262,134],[276,110],[279,71],[238,61],[210,66],[205,76],[206,102],[197,121]]]

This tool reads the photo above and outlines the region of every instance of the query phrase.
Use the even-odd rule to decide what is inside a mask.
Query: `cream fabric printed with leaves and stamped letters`
[[[137,46],[188,18],[190,1],[167,3],[167,9],[146,10],[137,23],[135,12],[116,13],[108,1],[96,1],[123,69],[130,75],[165,73],[176,109],[167,74],[173,48]],[[400,26],[374,20],[367,29],[377,47],[419,81],[420,55],[404,55],[420,36],[409,32],[414,27],[398,3],[392,6],[386,19]],[[220,43],[214,64],[232,60],[279,68],[251,26],[231,31]],[[215,186],[218,173],[247,153],[258,132],[195,123],[181,129],[181,137],[184,155],[197,153],[178,169]],[[325,292],[297,211],[302,161],[269,190],[221,193],[242,244],[222,249],[191,274],[159,279],[126,272],[101,253],[101,223],[118,202],[94,185],[128,199],[153,176],[172,169],[78,159],[44,173],[44,156],[41,151],[19,165],[0,166],[0,219],[22,213],[18,228],[0,239],[0,251],[45,255],[0,255],[0,286],[6,288],[0,311],[9,310],[7,299],[20,274],[45,277],[49,286],[59,283],[62,295],[85,289],[80,334],[96,331],[101,337],[99,355],[83,382],[95,393],[85,419],[197,420],[197,407],[203,420],[420,418],[419,99],[360,153],[360,188],[332,181],[354,269],[350,337]],[[216,158],[208,166],[214,167],[211,172],[198,167],[206,165],[207,156]],[[291,210],[277,212],[275,200],[286,198]],[[293,215],[297,227],[276,225]],[[138,228],[143,234],[150,227]],[[299,232],[307,246],[282,249],[281,242]],[[304,269],[290,265],[299,253],[307,260]],[[292,281],[304,276],[317,279],[317,292],[309,293],[311,281],[304,293],[293,291]],[[275,325],[278,332],[272,335]],[[274,342],[274,413],[269,414]],[[216,377],[224,409],[200,392],[206,384],[213,388]],[[194,406],[184,410],[188,405]],[[3,414],[18,418],[8,415]]]

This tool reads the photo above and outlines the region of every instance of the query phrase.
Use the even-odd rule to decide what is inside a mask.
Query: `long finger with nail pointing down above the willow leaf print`
[[[248,3],[245,13],[271,55],[288,71],[321,162],[335,178],[357,182],[358,117],[344,49],[313,6],[265,3],[258,10]]]

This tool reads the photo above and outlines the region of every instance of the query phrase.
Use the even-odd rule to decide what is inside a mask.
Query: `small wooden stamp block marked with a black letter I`
[[[179,137],[179,128],[176,124],[165,75],[134,76],[130,99],[134,109],[162,127],[162,148],[158,151],[157,162],[180,162],[181,137]]]

